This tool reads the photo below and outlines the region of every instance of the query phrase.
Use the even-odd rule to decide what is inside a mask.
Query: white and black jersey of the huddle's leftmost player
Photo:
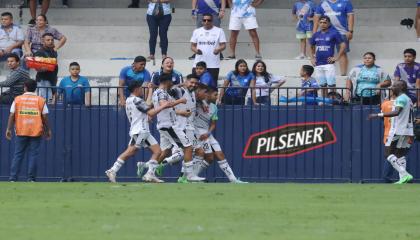
[[[130,122],[130,136],[141,132],[150,132],[147,111],[151,106],[139,97],[130,95],[125,101],[125,110]]]

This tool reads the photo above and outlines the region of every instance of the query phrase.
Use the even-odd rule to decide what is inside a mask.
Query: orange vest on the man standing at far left
[[[16,135],[26,137],[39,137],[44,130],[42,124],[42,110],[45,99],[24,94],[15,98]]]

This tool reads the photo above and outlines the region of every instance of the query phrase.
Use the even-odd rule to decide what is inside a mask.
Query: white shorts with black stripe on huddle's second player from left
[[[187,137],[184,130],[175,128],[161,128],[160,134],[160,148],[162,151],[178,146],[180,148],[190,147],[191,140]]]

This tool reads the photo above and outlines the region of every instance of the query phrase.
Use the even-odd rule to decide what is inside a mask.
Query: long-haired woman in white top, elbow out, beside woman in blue
[[[254,66],[252,67],[252,73],[255,76],[255,81],[250,83],[252,89],[251,91],[248,91],[247,104],[251,105],[252,103],[254,105],[271,105],[270,94],[273,91],[272,88],[280,87],[286,82],[286,80],[267,72],[267,65],[261,60],[258,60],[254,63]]]

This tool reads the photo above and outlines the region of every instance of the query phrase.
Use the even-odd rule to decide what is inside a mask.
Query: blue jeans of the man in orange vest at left
[[[17,180],[25,153],[28,157],[28,180],[35,180],[36,163],[39,157],[40,146],[41,137],[16,136],[15,156],[13,157],[12,166],[10,168],[10,181]]]

